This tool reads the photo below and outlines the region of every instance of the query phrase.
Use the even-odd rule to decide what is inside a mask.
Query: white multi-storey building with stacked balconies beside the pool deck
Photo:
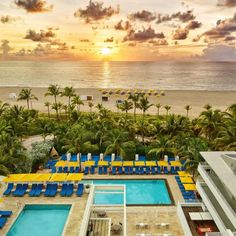
[[[205,235],[236,235],[236,152],[201,152],[196,187],[202,201],[179,203],[178,216],[186,236],[197,227],[212,225]],[[211,228],[211,227],[210,227]]]

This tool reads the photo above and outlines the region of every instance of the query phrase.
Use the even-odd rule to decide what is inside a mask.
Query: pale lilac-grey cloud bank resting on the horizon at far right
[[[203,50],[200,58],[211,61],[236,61],[236,49],[234,46],[210,45]]]

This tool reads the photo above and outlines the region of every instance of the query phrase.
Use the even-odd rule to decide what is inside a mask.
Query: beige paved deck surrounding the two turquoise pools
[[[184,233],[177,216],[178,201],[183,201],[182,194],[178,188],[173,175],[87,175],[84,179],[166,179],[172,193],[175,204],[170,206],[127,206],[127,235],[133,236],[137,233],[172,233],[175,236],[183,236]],[[2,192],[2,190],[1,190]],[[22,207],[25,204],[72,204],[72,209],[67,219],[64,229],[64,235],[78,236],[80,224],[86,207],[88,194],[83,197],[77,197],[73,194],[71,197],[3,197],[1,209],[12,210],[13,215],[9,218],[5,227],[0,230],[0,235],[6,235],[12,223],[17,218]],[[147,229],[136,229],[137,223],[147,223]],[[157,228],[157,223],[169,223],[168,229]],[[122,235],[122,234],[121,234]]]

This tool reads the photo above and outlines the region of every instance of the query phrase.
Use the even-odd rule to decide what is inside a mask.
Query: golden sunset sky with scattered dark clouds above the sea
[[[236,61],[236,0],[1,0],[1,60]]]

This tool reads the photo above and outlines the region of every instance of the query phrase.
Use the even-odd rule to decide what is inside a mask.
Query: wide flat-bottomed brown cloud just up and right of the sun
[[[124,41],[147,41],[155,38],[163,39],[165,38],[165,35],[162,32],[156,33],[150,26],[149,28],[143,28],[143,30],[139,30],[138,32],[130,30],[124,37]]]

